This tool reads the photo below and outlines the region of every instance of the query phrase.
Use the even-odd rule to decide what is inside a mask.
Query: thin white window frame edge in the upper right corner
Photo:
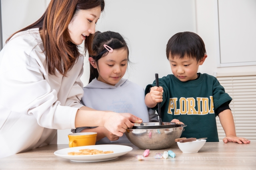
[[[215,42],[216,42],[216,58],[217,67],[232,67],[232,66],[251,66],[256,65],[256,61],[251,62],[237,62],[237,63],[221,63],[220,62],[220,27],[219,27],[219,10],[218,0],[214,0],[214,30],[215,30]]]

